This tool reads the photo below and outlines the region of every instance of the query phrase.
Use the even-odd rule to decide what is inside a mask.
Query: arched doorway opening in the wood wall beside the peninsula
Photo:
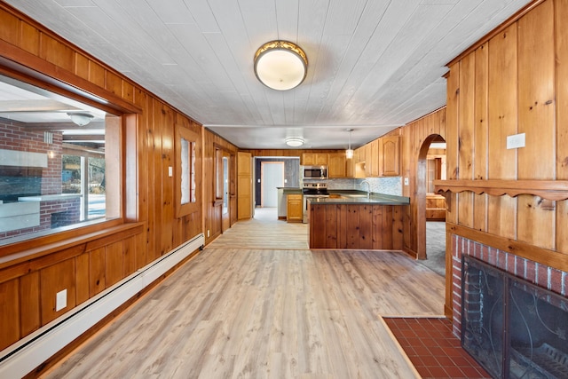
[[[418,259],[424,259],[425,265],[429,265],[441,275],[445,275],[446,266],[446,201],[444,197],[434,193],[432,182],[444,178],[446,178],[446,141],[440,135],[432,134],[422,143],[418,156],[417,253]]]

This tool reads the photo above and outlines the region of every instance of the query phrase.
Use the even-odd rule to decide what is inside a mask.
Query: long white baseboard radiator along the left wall
[[[68,343],[73,342],[193,251],[202,249],[204,244],[205,238],[203,233],[200,233],[191,241],[185,242],[113,287],[106,288],[99,295],[0,351],[0,378],[20,378],[27,375],[30,370],[40,366]]]

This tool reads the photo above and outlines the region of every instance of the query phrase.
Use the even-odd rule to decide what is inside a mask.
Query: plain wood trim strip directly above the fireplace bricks
[[[446,223],[446,233],[456,234],[471,241],[482,243],[495,249],[500,249],[517,257],[524,257],[542,265],[568,272],[568,254],[551,249],[539,248],[530,243],[512,240],[496,234],[471,229],[466,226]],[[447,247],[446,247],[447,249]]]

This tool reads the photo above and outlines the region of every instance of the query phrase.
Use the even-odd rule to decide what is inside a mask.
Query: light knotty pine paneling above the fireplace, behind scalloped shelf
[[[479,181],[568,178],[568,2],[536,1],[450,62],[447,90],[448,178]],[[525,133],[525,147],[507,136]],[[568,254],[568,204],[532,194],[451,194],[447,221],[519,241],[537,262]],[[534,252],[531,253],[532,247]],[[568,271],[561,262],[556,268]],[[555,263],[553,263],[553,266]],[[562,266],[557,266],[562,265]]]

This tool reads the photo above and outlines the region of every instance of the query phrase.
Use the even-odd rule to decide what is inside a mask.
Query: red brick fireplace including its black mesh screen
[[[545,362],[551,356],[554,356],[553,366],[563,373],[560,377],[568,375],[568,351],[564,350],[568,337],[564,327],[568,325],[568,274],[455,234],[449,250],[452,252],[453,329],[454,335],[461,337],[463,347],[497,377],[501,375],[501,369],[508,377],[556,377],[547,376],[548,374],[540,376],[540,373],[533,375],[534,367],[540,369],[540,366],[551,366],[549,362]],[[485,268],[477,271],[475,262],[479,262],[477,267]],[[477,278],[476,275],[481,276]],[[496,278],[503,278],[503,284],[498,285],[501,279]],[[489,283],[488,280],[492,282]],[[504,289],[496,289],[500,286]],[[488,291],[485,294],[483,287]],[[519,292],[518,288],[523,288],[521,292],[526,291],[527,295],[514,295],[516,291]],[[516,296],[517,299],[530,299],[525,301],[527,310],[522,311],[525,312],[524,315],[519,316],[519,304],[523,302],[516,300]],[[489,300],[491,298],[493,300]],[[536,305],[537,302],[539,306]],[[542,314],[539,314],[539,307]],[[543,319],[548,321],[544,322]],[[480,322],[477,326],[476,320],[483,320],[484,324],[481,325]],[[547,336],[545,334],[548,332],[539,333],[539,329],[546,324],[556,325],[551,327],[554,333]],[[485,351],[487,346],[492,347]],[[560,350],[552,346],[560,347]],[[548,351],[540,351],[543,347]],[[525,366],[519,366],[519,359],[515,357],[522,356],[518,351],[524,350],[530,351],[526,353],[526,357],[530,359],[523,357]],[[538,354],[544,355],[544,359]],[[539,360],[543,361],[540,366]],[[513,375],[516,370],[523,375]],[[531,375],[526,374],[529,372]]]

